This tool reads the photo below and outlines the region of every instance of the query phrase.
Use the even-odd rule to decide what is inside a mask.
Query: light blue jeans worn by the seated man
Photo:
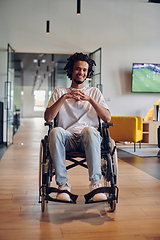
[[[65,163],[66,151],[85,151],[89,180],[101,179],[101,136],[94,127],[85,127],[81,134],[72,133],[61,127],[53,128],[49,134],[49,150],[55,169],[56,182],[68,182]]]

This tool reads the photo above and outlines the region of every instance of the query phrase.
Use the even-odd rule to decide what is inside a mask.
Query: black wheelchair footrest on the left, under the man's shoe
[[[70,196],[71,201],[63,201],[63,200],[58,200],[56,198],[52,198],[49,196],[50,193],[67,193]],[[46,200],[48,201],[53,201],[53,202],[63,202],[63,203],[75,203],[78,198],[78,195],[72,194],[67,190],[60,190],[58,188],[50,187],[47,189],[47,194],[46,194]]]

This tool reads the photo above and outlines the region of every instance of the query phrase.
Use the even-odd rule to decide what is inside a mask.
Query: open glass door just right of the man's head
[[[91,80],[91,87],[97,87],[103,92],[102,84],[101,84],[101,48],[98,48],[94,52],[90,53],[89,56],[96,63],[96,66],[93,67],[94,75]]]

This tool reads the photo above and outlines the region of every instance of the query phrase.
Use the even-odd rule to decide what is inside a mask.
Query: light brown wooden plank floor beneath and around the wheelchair
[[[119,159],[117,211],[104,203],[84,204],[88,173],[68,171],[76,205],[38,203],[40,140],[43,119],[23,119],[0,161],[0,240],[158,240],[160,239],[160,180]]]

